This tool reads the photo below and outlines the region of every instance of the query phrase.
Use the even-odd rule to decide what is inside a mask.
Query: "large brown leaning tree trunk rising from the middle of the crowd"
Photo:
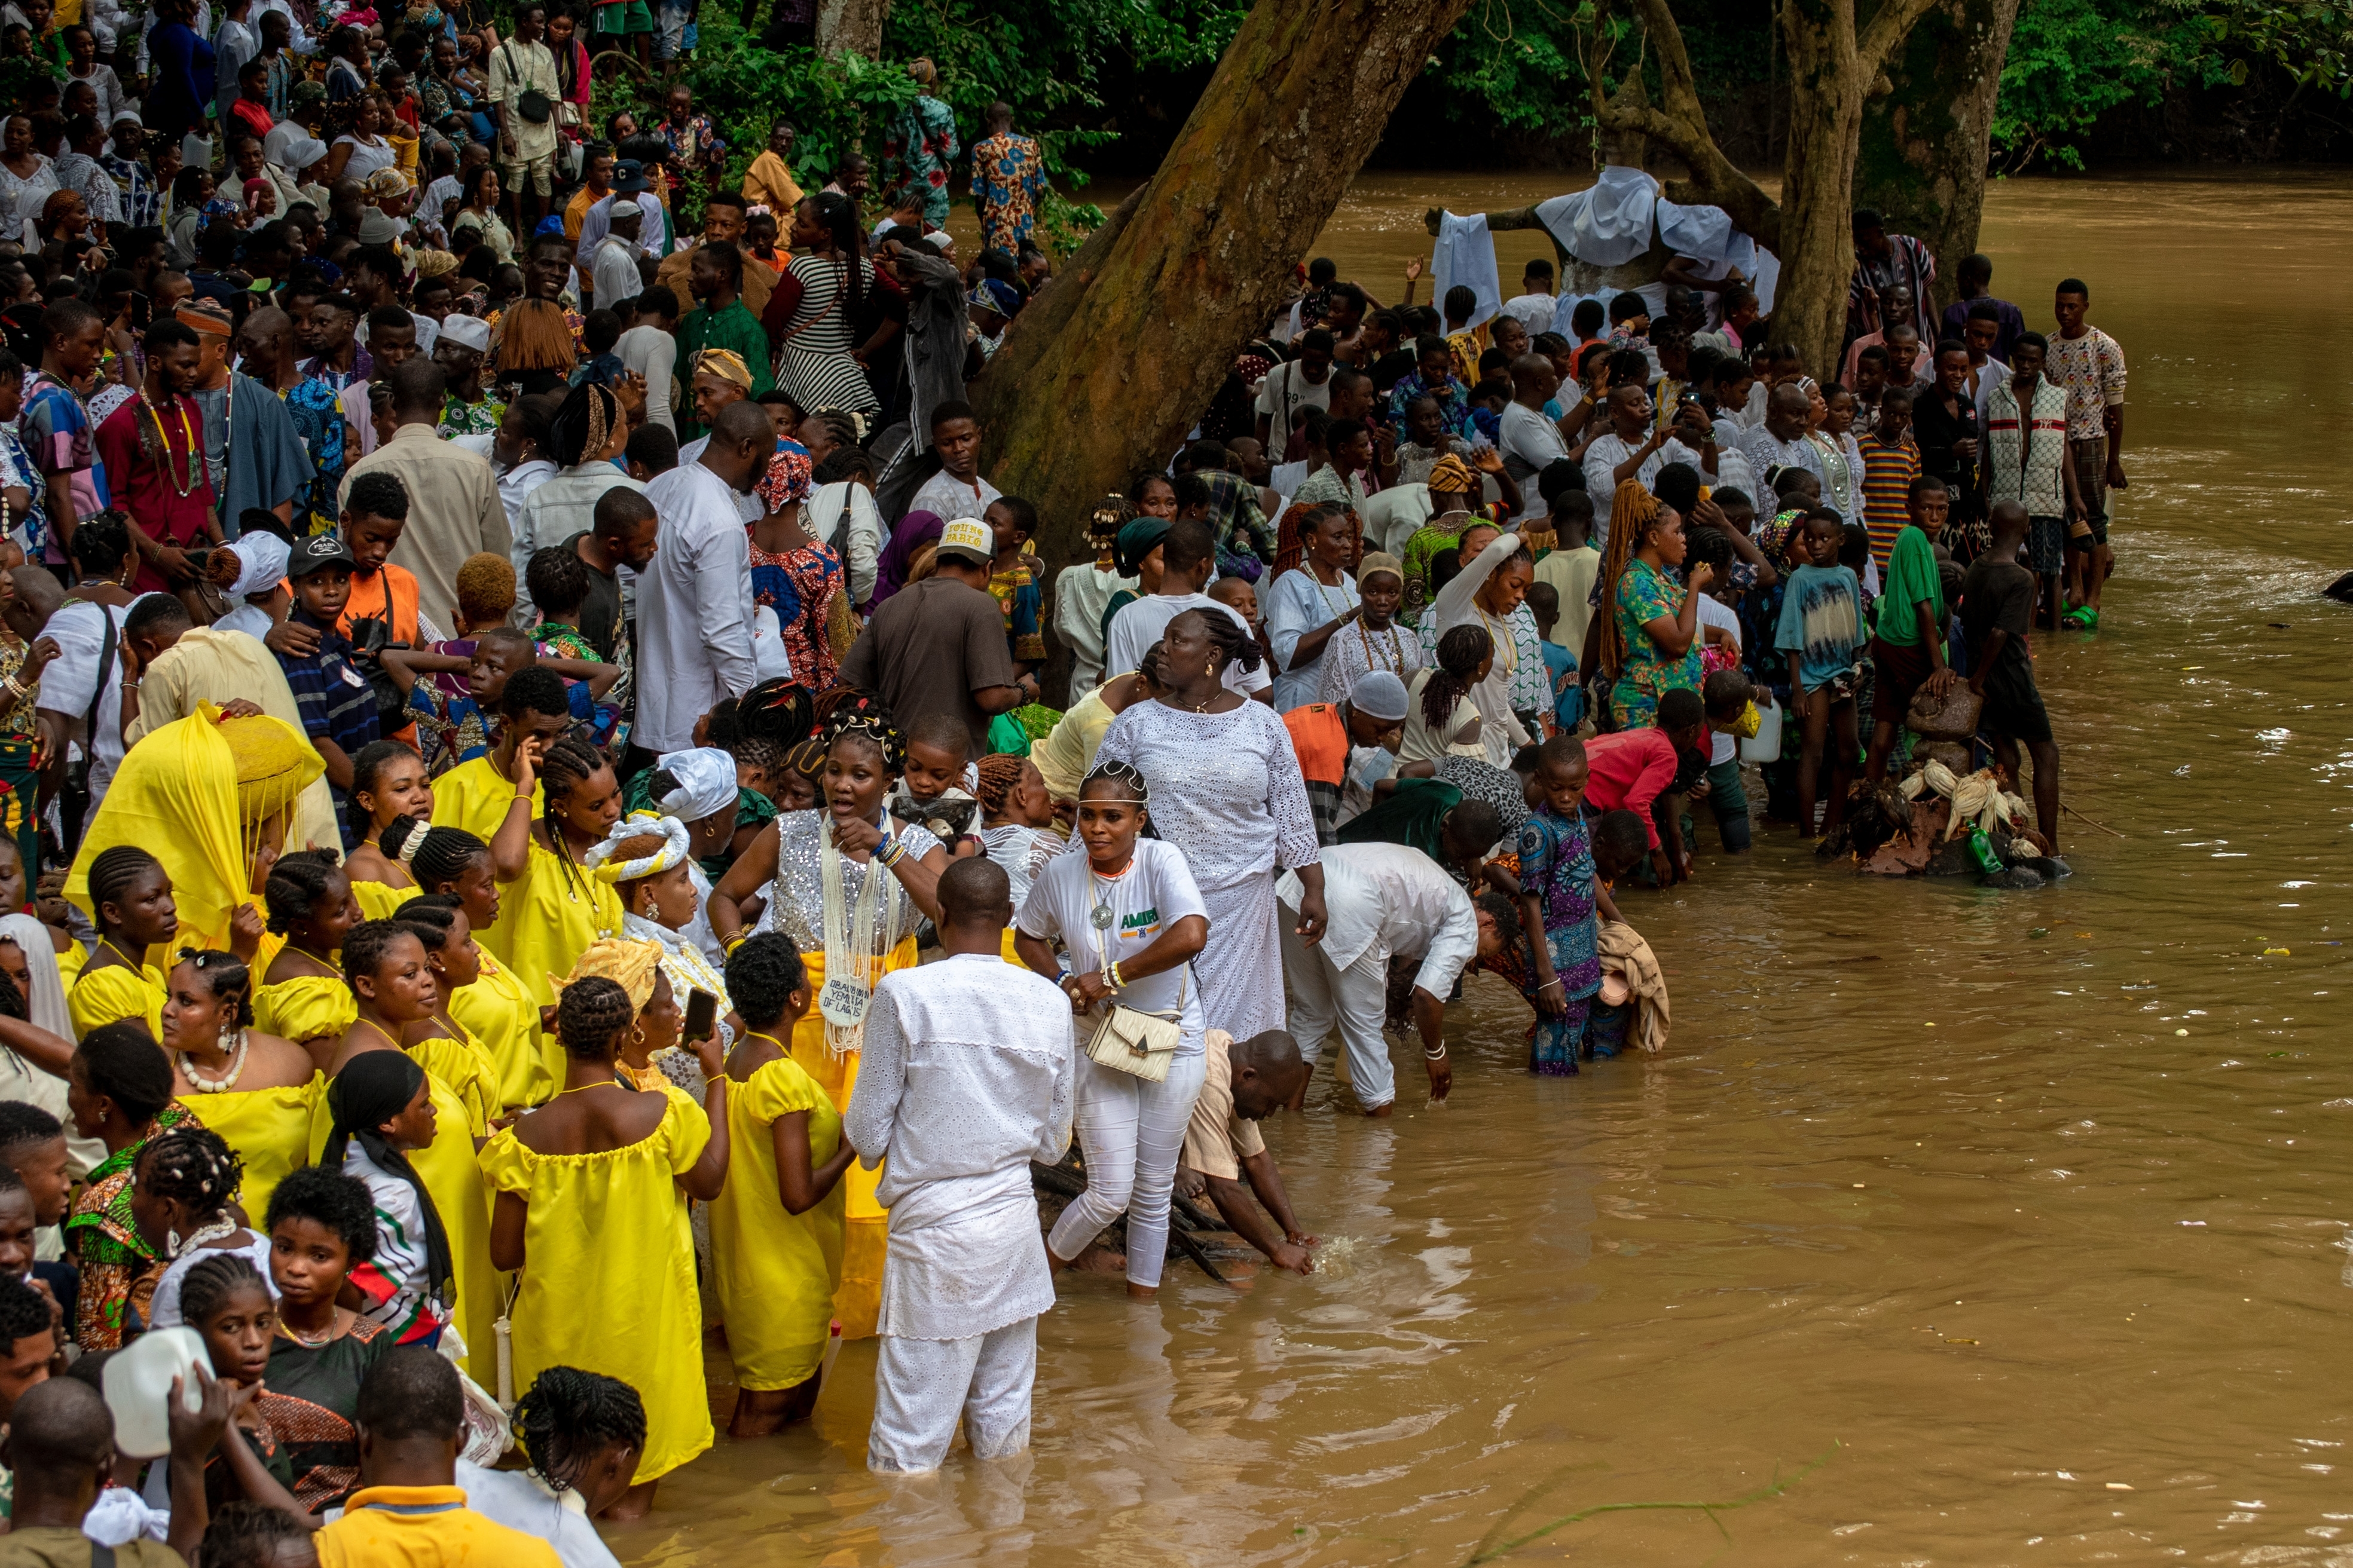
[[[1014,320],[972,402],[1047,562],[1209,407],[1466,5],[1261,0],[1151,183]]]

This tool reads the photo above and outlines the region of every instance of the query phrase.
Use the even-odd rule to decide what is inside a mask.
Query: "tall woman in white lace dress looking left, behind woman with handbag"
[[[1207,1027],[1235,1039],[1280,1030],[1282,940],[1275,867],[1299,872],[1299,936],[1325,929],[1315,818],[1289,731],[1266,703],[1228,691],[1226,665],[1259,665],[1259,644],[1231,616],[1188,609],[1162,637],[1169,693],[1134,703],[1094,752],[1129,762],[1153,797],[1153,825],[1184,851],[1209,910],[1195,971]]]

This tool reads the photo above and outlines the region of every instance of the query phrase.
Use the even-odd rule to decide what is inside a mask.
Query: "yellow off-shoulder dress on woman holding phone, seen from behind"
[[[529,1204],[511,1312],[515,1387],[551,1366],[579,1366],[638,1389],[645,1453],[635,1481],[659,1481],[711,1448],[694,1232],[678,1190],[711,1143],[711,1119],[682,1088],[661,1093],[661,1124],[619,1150],[536,1154],[513,1128],[482,1147],[492,1192]]]

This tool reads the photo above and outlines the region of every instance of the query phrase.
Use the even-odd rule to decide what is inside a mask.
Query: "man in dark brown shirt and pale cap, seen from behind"
[[[1005,611],[988,592],[993,559],[988,524],[951,522],[932,576],[885,599],[842,661],[842,684],[882,698],[901,733],[946,712],[972,731],[974,757],[988,748],[991,715],[1038,701],[1038,677],[1019,675],[1005,651]]]

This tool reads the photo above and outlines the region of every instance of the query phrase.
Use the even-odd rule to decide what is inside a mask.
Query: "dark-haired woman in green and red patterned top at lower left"
[[[75,1135],[106,1145],[106,1159],[89,1168],[66,1215],[66,1251],[82,1269],[73,1338],[85,1352],[118,1349],[132,1286],[160,1258],[132,1218],[139,1154],[153,1138],[202,1124],[172,1098],[172,1060],[139,1020],[106,1023],[82,1037],[66,1067],[66,1110]]]

